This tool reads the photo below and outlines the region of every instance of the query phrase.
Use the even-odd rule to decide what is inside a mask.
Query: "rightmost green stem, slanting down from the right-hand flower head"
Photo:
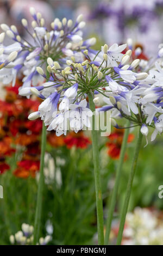
[[[140,129],[141,129],[141,127],[140,127]],[[134,174],[135,174],[135,170],[136,170],[137,159],[138,159],[139,151],[141,148],[141,142],[142,142],[142,133],[139,130],[139,135],[138,135],[137,142],[136,142],[133,162],[132,162],[129,180],[128,180],[128,184],[127,184],[126,197],[124,199],[124,204],[123,204],[122,213],[121,213],[121,221],[120,221],[120,228],[118,231],[117,245],[121,245],[121,241],[122,241],[124,223],[126,220],[126,214],[127,214],[127,210],[128,210],[129,199],[130,199],[130,194],[131,194],[131,188],[133,185],[133,179],[134,179]]]

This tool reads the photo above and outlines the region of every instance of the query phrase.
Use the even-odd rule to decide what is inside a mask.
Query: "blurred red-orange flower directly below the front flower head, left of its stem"
[[[78,133],[75,133],[74,131],[69,132],[65,137],[64,142],[68,149],[72,148],[73,146],[76,148],[85,149],[89,144],[91,144],[90,139],[84,135],[83,131],[79,131]]]

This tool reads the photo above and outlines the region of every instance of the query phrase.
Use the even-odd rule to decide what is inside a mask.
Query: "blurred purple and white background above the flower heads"
[[[162,42],[162,0],[1,0],[0,22],[15,24],[21,31],[22,17],[32,19],[31,6],[43,14],[47,26],[55,17],[75,19],[82,13],[85,36],[95,35],[99,44],[120,44],[132,38],[150,57]]]

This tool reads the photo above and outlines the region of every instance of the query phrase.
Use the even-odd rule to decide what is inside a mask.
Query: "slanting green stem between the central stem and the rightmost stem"
[[[130,121],[129,120],[127,120],[127,125],[126,126],[127,127],[130,126]],[[120,153],[120,160],[118,162],[114,189],[112,191],[111,202],[110,202],[109,210],[108,210],[108,218],[107,218],[107,221],[106,221],[105,245],[108,245],[108,242],[109,242],[111,222],[112,222],[112,217],[113,217],[114,209],[115,209],[115,205],[116,205],[116,198],[117,198],[118,187],[119,187],[120,178],[121,178],[124,156],[125,156],[125,153],[126,153],[128,135],[129,135],[129,129],[125,129],[123,142],[122,142],[122,147],[121,147],[121,153]]]

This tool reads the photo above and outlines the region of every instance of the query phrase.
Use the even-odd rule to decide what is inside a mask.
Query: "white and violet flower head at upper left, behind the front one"
[[[30,14],[33,17],[31,26],[26,19],[22,19],[22,25],[28,34],[27,38],[21,38],[14,25],[9,27],[1,24],[3,31],[15,43],[4,46],[5,33],[0,35],[0,68],[3,68],[0,70],[0,80],[4,84],[12,81],[14,86],[17,74],[22,72],[24,75],[22,89],[30,87],[31,84],[37,86],[44,80],[44,77],[38,74],[36,66],[41,66],[45,70],[48,57],[59,60],[60,64],[64,65],[66,56],[72,56],[74,53],[80,56],[81,51],[96,42],[95,38],[83,41],[81,29],[85,26],[85,22],[82,21],[82,15],[78,16],[74,24],[72,20],[67,21],[64,18],[60,21],[56,18],[51,23],[52,30],[48,31],[42,15],[36,13],[33,7],[30,8]],[[23,94],[26,94],[26,90],[25,92],[22,90]]]

